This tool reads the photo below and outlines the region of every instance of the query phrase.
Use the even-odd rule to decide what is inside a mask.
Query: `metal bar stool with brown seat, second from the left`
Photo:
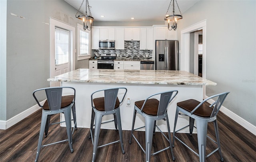
[[[118,93],[119,91],[119,93]],[[94,98],[97,96],[96,93],[100,94],[100,92],[104,92],[104,97]],[[91,118],[91,125],[90,125],[90,137],[92,137],[92,129],[94,128],[94,139],[92,138],[93,144],[93,155],[92,155],[92,162],[95,161],[97,148],[107,146],[109,144],[114,144],[120,142],[122,153],[124,154],[124,143],[122,138],[122,126],[121,126],[121,117],[120,117],[120,104],[123,102],[124,97],[126,95],[127,89],[126,88],[109,88],[104,90],[98,90],[91,95],[91,102],[92,102],[92,118]],[[121,94],[122,93],[122,94]],[[118,99],[118,94],[122,95],[121,102]],[[119,138],[115,142],[110,142],[108,144],[104,144],[102,146],[98,146],[98,140],[100,135],[100,126],[102,123],[102,117],[104,115],[111,115],[114,114],[114,120],[108,122],[115,122],[115,127],[118,126]],[[94,125],[94,118],[95,118],[95,125]]]

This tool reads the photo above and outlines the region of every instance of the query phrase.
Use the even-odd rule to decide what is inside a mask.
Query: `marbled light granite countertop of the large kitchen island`
[[[216,86],[215,82],[201,78],[186,71],[170,70],[110,70],[77,69],[47,79],[55,82],[94,82],[128,84],[170,84]]]

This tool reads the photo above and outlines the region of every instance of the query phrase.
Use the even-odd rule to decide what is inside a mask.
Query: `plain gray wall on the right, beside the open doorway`
[[[183,13],[180,30],[206,20],[206,86],[231,91],[224,106],[256,126],[256,1],[202,0]],[[178,34],[180,40],[180,34]]]

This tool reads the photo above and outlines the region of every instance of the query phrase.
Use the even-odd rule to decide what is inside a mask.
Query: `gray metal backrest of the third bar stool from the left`
[[[173,93],[176,92],[174,95]],[[160,93],[160,100],[158,105],[157,116],[164,115],[167,112],[167,108],[172,99],[178,94],[177,90]]]

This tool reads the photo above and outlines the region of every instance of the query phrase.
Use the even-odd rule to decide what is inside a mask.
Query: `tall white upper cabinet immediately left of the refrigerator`
[[[152,28],[140,28],[140,50],[153,50]]]

